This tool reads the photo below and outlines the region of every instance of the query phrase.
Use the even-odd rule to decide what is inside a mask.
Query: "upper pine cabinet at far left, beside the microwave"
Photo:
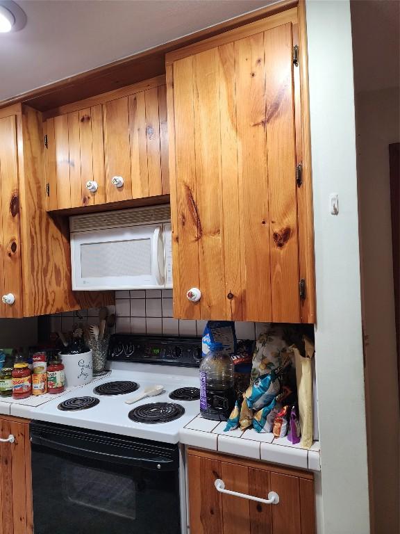
[[[46,211],[42,126],[42,114],[28,106],[0,110],[0,299],[12,296],[7,303],[0,300],[0,317],[67,312],[114,300],[111,292],[72,291],[68,220]],[[86,165],[82,158],[80,165]]]

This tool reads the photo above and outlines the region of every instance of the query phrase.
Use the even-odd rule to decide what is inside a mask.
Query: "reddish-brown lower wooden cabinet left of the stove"
[[[0,438],[0,533],[32,534],[31,442],[29,421],[1,416]]]

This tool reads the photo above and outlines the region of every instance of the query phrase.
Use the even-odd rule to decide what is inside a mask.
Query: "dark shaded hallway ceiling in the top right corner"
[[[400,2],[352,0],[356,92],[399,87]]]

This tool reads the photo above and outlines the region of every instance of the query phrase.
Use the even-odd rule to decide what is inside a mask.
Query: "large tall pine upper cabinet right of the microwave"
[[[297,35],[294,8],[167,54],[178,318],[315,320]]]

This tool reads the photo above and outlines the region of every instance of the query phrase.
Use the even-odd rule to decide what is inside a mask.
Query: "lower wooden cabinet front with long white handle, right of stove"
[[[262,504],[221,494],[225,489],[267,499]],[[313,474],[265,462],[188,449],[190,534],[315,534]]]

